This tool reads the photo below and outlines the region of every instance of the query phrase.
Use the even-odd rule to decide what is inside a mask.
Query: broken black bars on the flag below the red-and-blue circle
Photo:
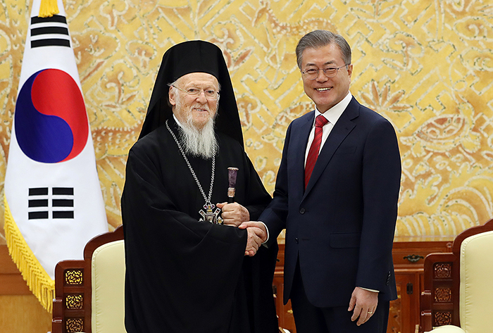
[[[49,198],[48,187],[29,189],[29,199],[27,202],[29,208],[28,219],[48,219],[50,211],[51,218],[74,218],[73,196],[73,187],[51,187],[51,198]],[[49,206],[50,199],[51,206]],[[60,210],[60,208],[63,209]]]

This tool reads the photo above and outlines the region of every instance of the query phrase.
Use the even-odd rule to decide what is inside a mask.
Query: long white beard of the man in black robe
[[[192,118],[187,118],[187,122],[179,126],[180,142],[185,146],[185,153],[188,155],[213,158],[218,151],[218,140],[214,132],[215,119],[208,120],[201,130],[197,129]]]

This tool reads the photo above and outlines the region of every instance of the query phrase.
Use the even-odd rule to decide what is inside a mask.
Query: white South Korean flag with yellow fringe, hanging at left
[[[4,202],[9,253],[51,311],[56,263],[82,259],[108,225],[63,3],[40,18],[41,1],[32,4]]]

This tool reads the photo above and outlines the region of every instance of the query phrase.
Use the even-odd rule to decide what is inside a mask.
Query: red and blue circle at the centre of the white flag
[[[84,99],[68,73],[53,68],[31,75],[15,104],[15,138],[34,161],[69,161],[84,149],[89,124]]]

